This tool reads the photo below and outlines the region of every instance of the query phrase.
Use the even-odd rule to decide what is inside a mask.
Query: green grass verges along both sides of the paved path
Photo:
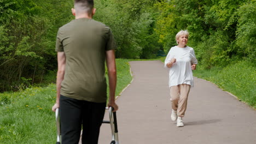
[[[117,59],[116,95],[131,82],[128,62],[138,60]],[[150,60],[164,62],[165,57]],[[195,76],[216,83],[220,88],[255,107],[256,69],[252,63],[242,61],[226,68],[216,67],[211,70],[200,70],[200,65],[198,66],[194,71]],[[51,106],[55,103],[55,89],[55,84],[50,84],[47,87],[27,88],[22,92],[1,93],[0,144],[55,143],[55,116],[51,111]]]

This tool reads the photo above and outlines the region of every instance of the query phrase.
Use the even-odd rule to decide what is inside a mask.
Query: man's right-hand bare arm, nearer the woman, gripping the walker
[[[109,79],[109,98],[108,107],[113,107],[113,112],[118,110],[118,105],[115,104],[115,87],[117,86],[117,69],[115,67],[115,52],[114,50],[106,51],[106,62],[108,68]]]

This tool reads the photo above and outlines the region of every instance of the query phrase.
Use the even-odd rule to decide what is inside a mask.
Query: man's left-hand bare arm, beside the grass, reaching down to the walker
[[[57,61],[58,61],[58,71],[57,71],[57,81],[56,81],[56,103],[53,106],[52,110],[55,111],[58,107],[60,107],[60,89],[61,82],[64,79],[65,67],[66,67],[66,55],[64,52],[57,53]]]

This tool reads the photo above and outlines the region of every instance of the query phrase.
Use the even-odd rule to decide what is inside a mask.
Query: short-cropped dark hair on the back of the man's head
[[[77,13],[91,14],[94,8],[94,0],[74,0],[74,8]]]

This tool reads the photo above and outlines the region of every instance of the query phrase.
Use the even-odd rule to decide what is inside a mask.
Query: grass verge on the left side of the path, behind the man
[[[128,59],[117,59],[116,95],[132,80]],[[55,75],[55,74],[54,74]],[[52,76],[53,78],[55,76]],[[0,94],[0,143],[55,143],[55,84]]]

